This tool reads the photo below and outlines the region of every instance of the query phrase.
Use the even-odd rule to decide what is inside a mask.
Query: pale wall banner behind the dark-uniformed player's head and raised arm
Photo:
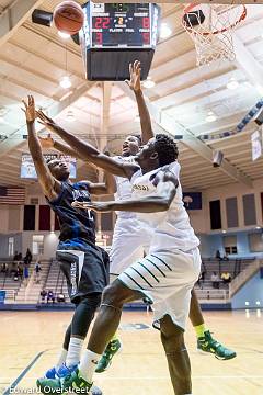
[[[69,166],[69,178],[75,179],[77,177],[77,160],[76,158],[69,156],[69,155],[61,155],[61,154],[44,154],[45,160],[50,159],[59,159],[65,160]],[[36,179],[36,171],[35,166],[32,159],[32,156],[30,154],[22,154],[21,158],[21,170],[20,170],[20,177],[24,179]]]

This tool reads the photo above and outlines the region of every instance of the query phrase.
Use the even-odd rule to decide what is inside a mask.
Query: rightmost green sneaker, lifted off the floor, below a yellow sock
[[[210,352],[219,360],[229,360],[237,357],[235,351],[215,340],[209,330],[206,330],[204,335],[204,337],[197,339],[197,350],[199,352]]]

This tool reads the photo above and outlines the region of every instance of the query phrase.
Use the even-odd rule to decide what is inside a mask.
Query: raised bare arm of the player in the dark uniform
[[[32,95],[28,95],[27,102],[23,100],[26,125],[28,131],[28,147],[35,165],[36,173],[44,194],[49,199],[57,198],[60,192],[60,182],[56,180],[43,158],[41,143],[35,131],[35,120],[37,117],[35,102]]]

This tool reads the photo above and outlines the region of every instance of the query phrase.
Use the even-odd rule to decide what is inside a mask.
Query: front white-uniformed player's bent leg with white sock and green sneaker
[[[69,388],[87,388],[92,386],[92,377],[96,364],[113,335],[119,325],[124,303],[141,298],[141,294],[133,291],[116,280],[107,286],[103,293],[101,309],[98,314],[88,343],[83,352],[79,368],[70,375],[60,381],[64,391]],[[56,382],[56,385],[59,381]]]

